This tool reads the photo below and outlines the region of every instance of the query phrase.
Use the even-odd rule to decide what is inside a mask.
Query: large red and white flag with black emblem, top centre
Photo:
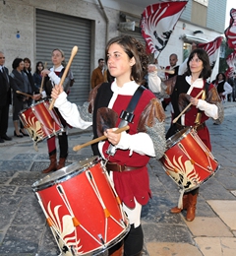
[[[162,2],[149,5],[142,14],[141,31],[148,53],[161,52],[188,1]]]

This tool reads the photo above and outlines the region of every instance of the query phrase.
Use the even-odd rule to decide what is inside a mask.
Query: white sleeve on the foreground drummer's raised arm
[[[77,105],[67,100],[67,94],[65,92],[58,96],[54,105],[71,126],[85,130],[92,125],[92,122],[84,121],[81,118]]]

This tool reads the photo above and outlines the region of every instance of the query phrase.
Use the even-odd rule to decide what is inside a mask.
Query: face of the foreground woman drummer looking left
[[[132,57],[130,59],[118,43],[110,45],[107,53],[107,67],[112,77],[129,82],[131,69],[134,64],[135,58]]]

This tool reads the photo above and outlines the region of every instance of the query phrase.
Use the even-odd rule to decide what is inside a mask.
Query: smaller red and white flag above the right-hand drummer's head
[[[222,39],[223,39],[223,36],[218,36],[212,41],[198,44],[198,47],[203,48],[207,51],[211,69],[213,69],[214,64],[218,58],[218,52],[220,49]]]

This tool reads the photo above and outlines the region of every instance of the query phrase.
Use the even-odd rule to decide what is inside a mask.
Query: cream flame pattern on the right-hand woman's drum
[[[191,160],[182,160],[183,156],[180,156],[177,160],[175,156],[173,156],[173,159],[170,160],[166,155],[164,159],[166,161],[163,164],[167,174],[169,174],[178,185],[189,189],[200,183],[201,178],[196,172],[195,166]]]

